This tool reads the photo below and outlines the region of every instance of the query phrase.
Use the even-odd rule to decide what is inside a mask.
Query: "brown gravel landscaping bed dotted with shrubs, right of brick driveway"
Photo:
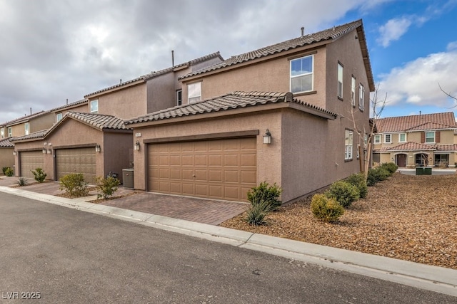
[[[220,226],[457,269],[457,175],[393,174],[368,187],[334,224],[311,214],[311,196],[250,226],[241,214]]]

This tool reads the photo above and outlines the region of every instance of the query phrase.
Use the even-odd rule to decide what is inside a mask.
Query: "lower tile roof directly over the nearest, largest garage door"
[[[302,105],[304,108],[312,109],[322,114],[336,117],[336,114],[315,105],[304,103],[301,100],[293,98],[292,93],[273,93],[273,92],[233,92],[226,95],[221,95],[216,98],[202,100],[197,103],[187,105],[179,105],[174,108],[160,110],[148,115],[126,120],[126,125],[149,122],[154,120],[165,120],[175,117],[185,117],[189,115],[199,115],[209,112],[219,112],[233,110],[237,108],[253,107],[258,105],[265,105],[268,103],[296,103]]]

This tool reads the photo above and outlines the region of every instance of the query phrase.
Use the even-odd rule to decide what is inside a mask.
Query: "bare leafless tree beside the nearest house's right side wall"
[[[370,167],[370,159],[373,150],[373,136],[376,130],[376,120],[381,118],[381,114],[386,107],[387,103],[387,93],[383,99],[378,99],[378,87],[374,90],[373,97],[370,99],[371,113],[372,118],[369,119],[369,130],[366,130],[366,124],[363,125],[363,130],[359,130],[357,126],[356,118],[354,117],[354,108],[351,108],[351,119],[353,122],[354,132],[358,135],[359,142],[362,142],[363,145],[358,145],[358,155],[359,155],[359,165],[360,172],[365,175],[365,178],[368,177],[368,168]],[[354,98],[354,97],[353,97]]]

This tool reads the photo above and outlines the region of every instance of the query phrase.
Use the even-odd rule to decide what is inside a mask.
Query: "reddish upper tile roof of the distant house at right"
[[[453,112],[380,118],[376,120],[376,127],[380,133],[402,132],[427,123],[431,123],[428,126],[439,124],[447,127],[457,127]]]

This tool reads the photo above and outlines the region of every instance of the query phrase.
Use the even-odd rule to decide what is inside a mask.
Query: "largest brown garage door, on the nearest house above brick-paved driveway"
[[[151,192],[244,201],[256,175],[256,138],[149,145]]]

